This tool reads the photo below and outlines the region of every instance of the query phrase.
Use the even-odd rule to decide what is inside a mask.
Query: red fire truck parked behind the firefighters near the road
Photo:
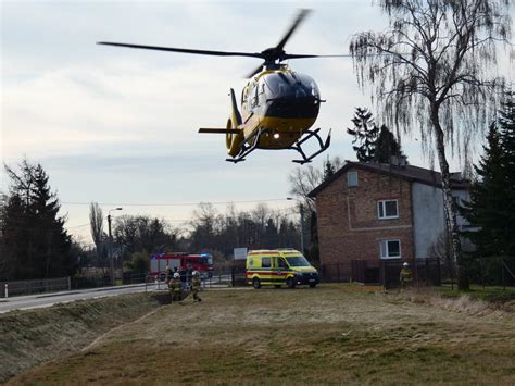
[[[213,257],[210,253],[154,253],[150,257],[149,276],[164,281],[166,278],[166,266],[169,266],[172,272],[177,269],[179,273],[191,267],[192,271],[199,271],[201,277],[208,278],[213,275]]]

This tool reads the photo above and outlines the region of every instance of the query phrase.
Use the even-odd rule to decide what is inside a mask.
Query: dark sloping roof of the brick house
[[[329,186],[335,179],[338,179],[342,174],[344,174],[350,169],[362,169],[374,173],[391,175],[399,178],[403,178],[413,183],[420,183],[430,186],[435,186],[441,188],[441,174],[439,172],[431,171],[429,169],[413,166],[413,165],[405,165],[405,166],[398,166],[388,163],[375,163],[375,162],[353,162],[353,161],[346,161],[343,167],[341,167],[338,172],[314,188],[310,194],[309,197],[316,197],[322,190],[324,190],[327,186]],[[451,173],[452,174],[452,173]],[[465,190],[468,188],[468,182],[460,178],[460,177],[452,177],[451,176],[451,185],[452,188],[455,190]]]

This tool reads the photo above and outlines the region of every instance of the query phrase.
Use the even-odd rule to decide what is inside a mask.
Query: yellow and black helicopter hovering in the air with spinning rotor
[[[216,57],[251,57],[264,60],[248,77],[249,83],[241,92],[241,113],[238,109],[235,91],[230,89],[231,114],[226,127],[199,128],[199,133],[225,134],[227,161],[244,161],[255,149],[291,149],[301,154],[300,164],[311,162],[313,158],[327,150],[330,145],[330,132],[324,141],[318,135],[319,128],[311,129],[318,116],[321,99],[318,86],[307,75],[291,70],[282,61],[303,58],[349,57],[291,54],[286,53],[285,45],[310,10],[300,10],[297,18],[277,46],[262,52],[211,51],[186,48],[128,45],[99,41],[98,45],[128,47],[158,51],[172,51]],[[316,138],[319,149],[306,155],[302,144]]]

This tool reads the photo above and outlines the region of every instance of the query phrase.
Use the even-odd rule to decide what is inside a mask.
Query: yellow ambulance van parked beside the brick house
[[[247,253],[247,281],[255,289],[263,285],[294,288],[306,284],[314,288],[318,272],[294,249],[260,249]]]

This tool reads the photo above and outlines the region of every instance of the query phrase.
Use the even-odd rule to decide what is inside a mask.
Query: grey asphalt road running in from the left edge
[[[161,284],[161,289],[165,286]],[[28,310],[34,308],[50,307],[55,303],[67,303],[75,300],[85,300],[102,298],[106,296],[116,296],[122,294],[143,292],[145,290],[156,290],[156,284],[134,284],[127,286],[90,288],[81,290],[63,291],[55,294],[38,294],[29,296],[16,296],[12,298],[0,299],[0,313],[13,310]]]

